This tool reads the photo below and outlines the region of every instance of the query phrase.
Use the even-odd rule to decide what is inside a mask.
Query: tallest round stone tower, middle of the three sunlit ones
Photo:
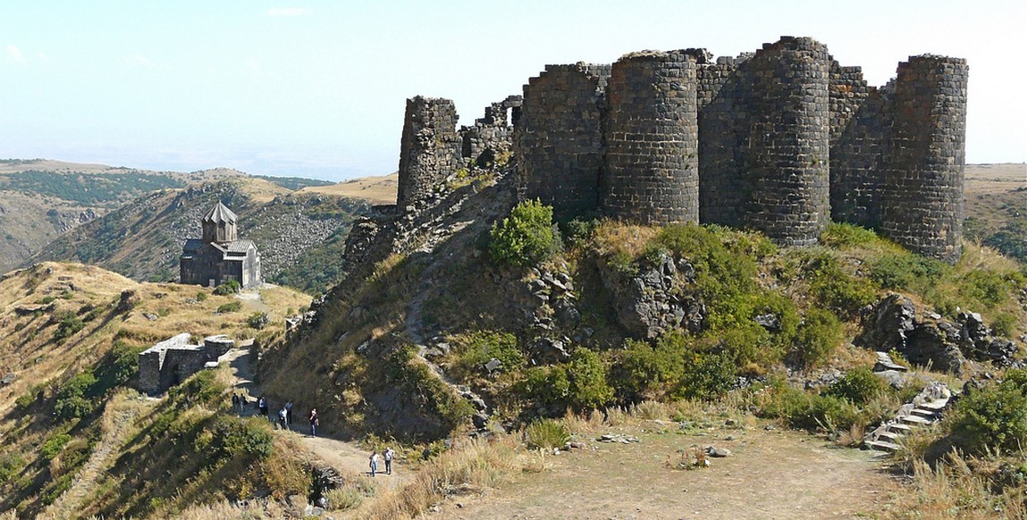
[[[745,224],[782,245],[812,245],[831,219],[831,57],[811,38],[782,37],[746,62],[752,75],[743,175]]]

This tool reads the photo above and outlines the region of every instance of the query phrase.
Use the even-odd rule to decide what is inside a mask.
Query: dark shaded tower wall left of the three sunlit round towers
[[[595,211],[603,167],[602,102],[609,66],[550,65],[524,86],[514,136],[518,192],[558,215]]]

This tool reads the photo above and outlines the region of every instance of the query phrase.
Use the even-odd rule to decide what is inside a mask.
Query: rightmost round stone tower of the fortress
[[[924,54],[899,64],[881,232],[955,264],[963,219],[966,61]]]

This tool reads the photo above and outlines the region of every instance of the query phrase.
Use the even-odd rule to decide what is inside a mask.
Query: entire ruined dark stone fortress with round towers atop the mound
[[[559,216],[719,224],[811,245],[829,222],[955,263],[963,219],[964,59],[922,54],[869,86],[811,38],[754,53],[643,51],[546,66],[523,96],[457,128],[452,101],[407,102],[397,210],[512,153],[521,199]]]

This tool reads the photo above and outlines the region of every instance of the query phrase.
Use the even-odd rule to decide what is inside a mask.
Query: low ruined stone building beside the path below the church
[[[234,346],[225,334],[205,337],[203,345],[190,345],[191,337],[184,332],[139,354],[140,392],[162,394],[204,368],[217,367],[218,358]]]

